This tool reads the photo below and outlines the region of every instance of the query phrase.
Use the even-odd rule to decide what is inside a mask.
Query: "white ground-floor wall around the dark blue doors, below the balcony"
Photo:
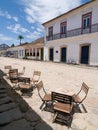
[[[49,61],[49,48],[54,48],[54,61],[60,62],[61,47],[67,48],[67,62],[68,60],[80,63],[80,46],[82,44],[91,44],[90,49],[90,65],[98,65],[98,33],[92,33],[87,35],[81,35],[66,39],[58,39],[49,41],[45,48],[44,56],[45,60]],[[58,51],[58,53],[56,53]]]

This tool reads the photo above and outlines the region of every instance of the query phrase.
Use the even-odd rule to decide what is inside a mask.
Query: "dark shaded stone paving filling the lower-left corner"
[[[0,130],[52,130],[3,79],[0,70]]]

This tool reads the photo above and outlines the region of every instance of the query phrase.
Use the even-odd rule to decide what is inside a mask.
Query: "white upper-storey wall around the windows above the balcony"
[[[92,3],[92,5],[87,5],[87,7],[83,7],[78,10],[74,10],[71,13],[68,13],[66,15],[63,15],[62,17],[59,17],[55,19],[54,21],[48,23],[45,25],[45,35],[48,36],[48,28],[53,26],[53,34],[60,33],[60,23],[67,21],[67,31],[81,28],[82,25],[82,15],[92,12],[92,24],[98,23],[98,2]]]

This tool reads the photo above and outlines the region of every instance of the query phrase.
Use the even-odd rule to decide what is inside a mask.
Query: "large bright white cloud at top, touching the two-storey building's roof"
[[[21,0],[28,22],[46,22],[81,4],[81,0]],[[28,20],[29,17],[29,20]]]

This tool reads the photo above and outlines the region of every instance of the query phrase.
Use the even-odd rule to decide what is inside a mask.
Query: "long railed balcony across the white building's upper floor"
[[[57,33],[52,36],[46,36],[46,40],[51,41],[51,40],[73,37],[73,36],[78,36],[78,35],[83,35],[83,34],[94,33],[94,32],[98,32],[98,23],[91,25],[90,28],[86,28],[86,29],[77,28],[70,31],[66,31],[65,34]]]

